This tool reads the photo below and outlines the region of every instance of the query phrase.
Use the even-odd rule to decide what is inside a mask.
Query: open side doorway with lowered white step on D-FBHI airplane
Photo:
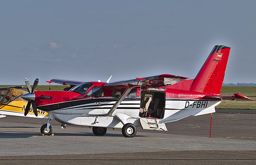
[[[140,123],[142,129],[164,130],[164,123],[159,123],[164,117],[165,93],[162,91],[141,91]]]

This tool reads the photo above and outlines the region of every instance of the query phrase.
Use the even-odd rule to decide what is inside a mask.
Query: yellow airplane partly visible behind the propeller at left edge
[[[23,116],[27,105],[27,101],[20,96],[28,93],[28,89],[23,86],[12,86],[0,88],[0,118],[6,115]],[[48,118],[48,113],[37,110],[38,118]],[[36,117],[32,106],[26,117]]]

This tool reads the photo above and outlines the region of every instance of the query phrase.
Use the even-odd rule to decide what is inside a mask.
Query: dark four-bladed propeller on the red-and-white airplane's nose
[[[34,84],[32,86],[32,90],[31,90],[31,86],[30,86],[30,83],[29,83],[29,80],[27,78],[25,78],[25,84],[27,86],[27,90],[29,93],[21,96],[23,99],[27,100],[27,106],[25,108],[25,112],[24,112],[24,115],[27,116],[28,112],[29,112],[29,109],[30,109],[30,106],[32,104],[32,108],[33,108],[33,112],[34,112],[34,115],[35,116],[38,116],[38,112],[37,112],[37,108],[36,108],[36,105],[35,105],[35,102],[34,102],[34,91],[38,85],[38,82],[39,82],[39,79],[36,78],[35,81],[34,81]]]

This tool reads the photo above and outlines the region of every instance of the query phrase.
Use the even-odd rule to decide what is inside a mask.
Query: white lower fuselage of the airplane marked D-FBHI
[[[66,109],[53,110],[57,121],[62,121],[69,125],[83,125],[90,127],[107,127],[107,128],[122,128],[123,124],[115,117],[104,116],[111,109],[115,102],[101,102],[100,105],[96,103],[88,103],[80,106],[73,106]],[[186,107],[189,103],[189,106]],[[160,123],[168,123],[178,121],[188,116],[196,116],[202,111],[204,114],[214,113],[214,107],[221,101],[199,101],[199,100],[167,100],[165,102],[164,116],[160,119]],[[204,107],[202,107],[205,106]],[[117,108],[116,113],[127,114],[130,116],[129,123],[139,125],[140,101],[123,101]],[[98,119],[96,119],[98,118]],[[148,117],[150,118],[150,117]],[[98,120],[98,121],[97,121]]]

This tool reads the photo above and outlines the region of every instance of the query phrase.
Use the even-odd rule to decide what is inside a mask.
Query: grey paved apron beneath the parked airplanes
[[[51,121],[54,136],[39,136],[46,119],[0,118],[0,164],[256,164],[256,114],[210,114],[168,123],[168,131],[138,128],[134,138],[108,129]]]

